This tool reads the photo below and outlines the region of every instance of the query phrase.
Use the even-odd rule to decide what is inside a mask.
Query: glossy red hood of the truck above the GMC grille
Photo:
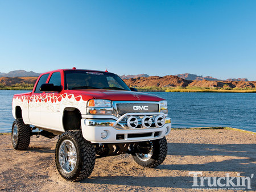
[[[94,99],[108,99],[111,101],[162,101],[161,97],[156,95],[134,92],[134,91],[122,91],[122,90],[68,90],[69,93],[75,95],[82,95],[83,98],[88,99],[92,97]]]

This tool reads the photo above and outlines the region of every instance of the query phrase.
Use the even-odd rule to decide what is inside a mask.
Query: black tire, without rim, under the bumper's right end
[[[137,164],[146,167],[146,168],[154,168],[166,159],[167,156],[167,140],[166,137],[158,140],[152,140],[153,145],[153,154],[150,159],[143,161],[141,160],[135,153],[133,153],[133,159]]]

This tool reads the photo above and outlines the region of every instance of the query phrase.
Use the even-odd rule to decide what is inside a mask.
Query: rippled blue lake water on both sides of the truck
[[[11,132],[13,95],[26,92],[0,90],[0,132]],[[255,93],[151,94],[167,100],[172,127],[234,127],[256,132]]]

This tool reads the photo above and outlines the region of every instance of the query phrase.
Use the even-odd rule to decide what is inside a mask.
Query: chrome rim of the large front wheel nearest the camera
[[[77,163],[77,152],[71,140],[64,140],[59,148],[59,162],[65,173],[71,173]]]

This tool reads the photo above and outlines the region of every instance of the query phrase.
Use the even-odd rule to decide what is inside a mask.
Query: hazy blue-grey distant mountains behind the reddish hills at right
[[[218,80],[217,78],[213,78],[210,76],[197,76],[196,74],[191,73],[183,73],[183,74],[176,74],[177,77],[183,78],[184,80],[192,80],[192,81],[248,81],[247,78],[228,78],[227,80]]]

